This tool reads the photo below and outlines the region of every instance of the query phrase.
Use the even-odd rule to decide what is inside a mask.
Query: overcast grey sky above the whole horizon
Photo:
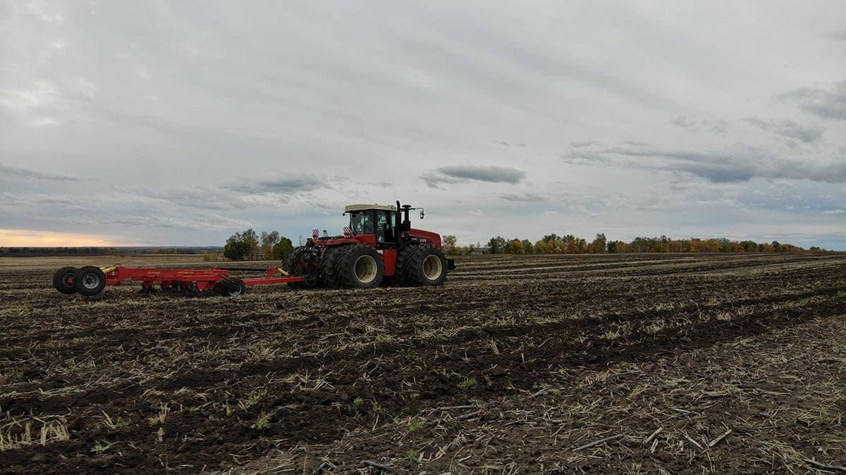
[[[843,2],[0,0],[0,245],[338,233],[846,250]]]

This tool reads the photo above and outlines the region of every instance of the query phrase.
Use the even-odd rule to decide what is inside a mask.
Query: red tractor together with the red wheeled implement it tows
[[[409,286],[439,286],[447,271],[455,269],[453,259],[441,250],[441,236],[412,229],[409,205],[349,205],[349,227],[343,236],[318,237],[317,230],[305,246],[294,248],[279,267],[213,267],[211,269],[156,269],[152,267],[63,267],[53,275],[53,287],[64,294],[93,297],[106,286],[140,281],[152,292],[158,285],[164,291],[222,292],[238,297],[247,287],[288,284],[291,287],[378,287],[393,281]],[[325,231],[324,231],[325,233]],[[234,271],[261,271],[263,277],[244,278]]]

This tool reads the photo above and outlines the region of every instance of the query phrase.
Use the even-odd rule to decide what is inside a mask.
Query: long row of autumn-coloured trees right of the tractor
[[[455,236],[444,236],[443,248],[447,254],[618,254],[618,253],[804,253],[827,252],[816,246],[808,249],[793,244],[755,243],[755,241],[732,241],[726,238],[689,238],[671,239],[634,238],[629,243],[608,241],[605,234],[597,234],[588,242],[572,234],[558,236],[547,234],[535,243],[529,239],[506,239],[502,236],[491,238],[487,247],[481,244],[469,246],[456,245]]]

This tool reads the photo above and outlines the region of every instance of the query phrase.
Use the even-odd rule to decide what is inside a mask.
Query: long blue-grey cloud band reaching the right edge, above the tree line
[[[766,150],[749,147],[729,152],[614,147],[595,152],[593,156],[604,159],[608,165],[686,172],[712,183],[739,183],[753,177],[846,183],[846,161],[816,163],[776,156]],[[584,154],[572,154],[563,160],[575,164],[587,163]],[[602,160],[594,162],[603,163]]]

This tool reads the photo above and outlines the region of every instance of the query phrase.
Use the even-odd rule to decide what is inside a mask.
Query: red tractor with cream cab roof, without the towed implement
[[[407,286],[439,286],[455,268],[441,250],[436,232],[411,227],[410,205],[349,205],[349,227],[343,236],[319,237],[312,232],[305,246],[291,250],[281,268],[303,276],[292,287],[379,287],[391,282]]]

